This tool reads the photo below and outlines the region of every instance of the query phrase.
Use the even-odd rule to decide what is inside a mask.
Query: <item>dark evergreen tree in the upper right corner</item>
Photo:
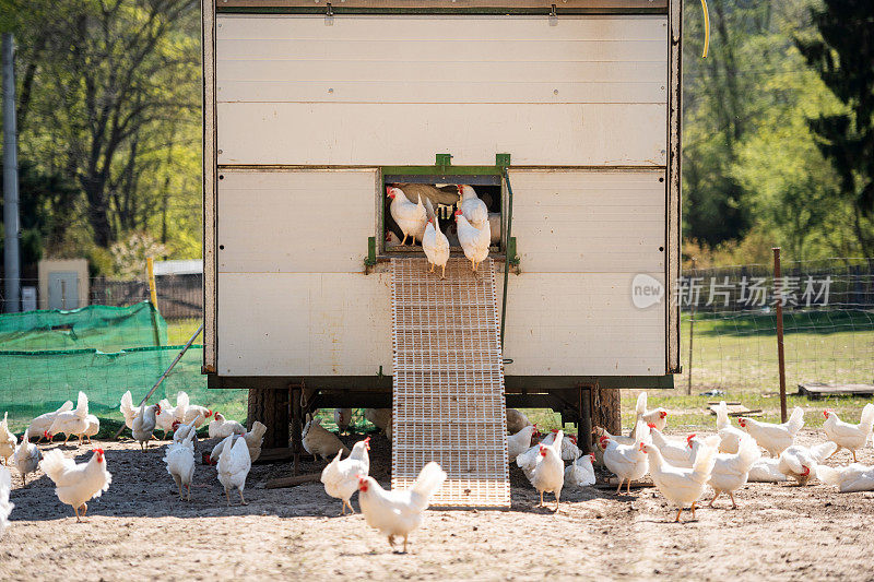
[[[874,256],[874,2],[824,0],[811,9],[818,38],[795,35],[807,64],[845,105],[808,119],[816,145],[853,205],[853,228],[866,257]]]

